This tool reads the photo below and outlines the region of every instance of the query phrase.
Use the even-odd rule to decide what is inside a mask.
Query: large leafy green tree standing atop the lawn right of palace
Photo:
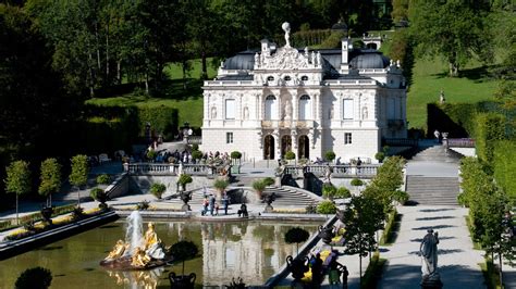
[[[468,1],[414,1],[410,30],[421,55],[443,56],[450,65],[450,76],[474,55],[490,58],[490,45],[484,30],[484,13],[475,11]],[[413,9],[410,7],[410,9]]]

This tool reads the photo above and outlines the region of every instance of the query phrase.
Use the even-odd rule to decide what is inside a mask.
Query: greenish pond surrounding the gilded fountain
[[[198,246],[199,256],[185,262],[185,273],[197,275],[199,288],[229,285],[233,277],[242,277],[246,285],[262,285],[285,263],[287,255],[296,252],[296,244],[284,242],[285,233],[302,227],[315,234],[320,225],[159,221],[155,224],[158,237],[167,246],[179,240]],[[170,288],[168,275],[171,271],[181,274],[181,264],[133,272],[108,271],[99,265],[124,236],[124,222],[115,222],[0,261],[0,288],[13,288],[17,276],[35,266],[52,272],[52,288]]]

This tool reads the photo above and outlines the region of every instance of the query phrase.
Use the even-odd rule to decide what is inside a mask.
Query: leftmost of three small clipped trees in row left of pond
[[[25,161],[12,162],[7,168],[5,191],[16,194],[16,224],[20,224],[17,201],[19,196],[30,191],[30,169]]]

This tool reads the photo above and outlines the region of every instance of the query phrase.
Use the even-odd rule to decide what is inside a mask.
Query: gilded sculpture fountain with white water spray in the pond
[[[133,211],[127,217],[125,241],[118,240],[108,256],[100,261],[100,265],[122,271],[148,269],[172,261],[151,222],[148,223],[145,235],[143,231],[142,215],[138,211]]]

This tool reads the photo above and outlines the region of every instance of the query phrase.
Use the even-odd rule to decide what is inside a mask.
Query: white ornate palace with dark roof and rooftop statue
[[[228,59],[204,84],[202,151],[241,151],[274,160],[292,150],[315,160],[373,161],[382,138],[406,138],[406,84],[400,63],[381,52],[277,48]]]

